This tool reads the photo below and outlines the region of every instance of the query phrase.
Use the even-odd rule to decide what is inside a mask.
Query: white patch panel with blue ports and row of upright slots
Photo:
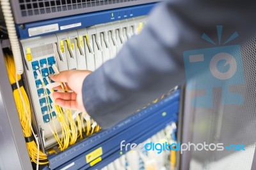
[[[68,69],[94,71],[104,62],[115,57],[127,39],[138,34],[137,30],[141,29],[144,22],[146,22],[145,16],[21,40],[28,66],[26,76],[28,76],[31,101],[38,125],[44,131],[46,148],[56,143],[49,126],[54,125],[57,132],[62,131],[58,121],[54,121],[55,124],[51,121],[49,109],[47,110],[50,115],[49,120],[42,117],[41,108],[49,105],[48,100],[52,103],[51,91],[44,87],[52,83],[49,75]]]

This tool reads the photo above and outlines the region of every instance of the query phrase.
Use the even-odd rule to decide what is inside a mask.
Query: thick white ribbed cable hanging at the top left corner
[[[16,73],[22,74],[23,73],[22,57],[20,53],[19,39],[17,37],[15,24],[13,20],[11,5],[9,0],[0,0],[0,1],[1,1],[1,7],[4,15],[8,36],[12,46],[12,53],[13,53],[13,58],[15,62]]]

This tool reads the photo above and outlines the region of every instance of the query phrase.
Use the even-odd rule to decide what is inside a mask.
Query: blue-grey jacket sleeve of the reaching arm
[[[223,39],[237,31],[234,43],[241,43],[255,31],[255,2],[173,0],[160,4],[143,31],[84,80],[86,111],[108,128],[184,82],[183,52],[211,47],[201,36],[205,32],[217,38],[216,25],[223,25]]]

